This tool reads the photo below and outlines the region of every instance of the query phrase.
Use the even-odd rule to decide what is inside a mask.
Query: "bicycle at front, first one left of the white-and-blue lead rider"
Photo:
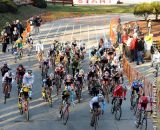
[[[69,106],[70,106],[70,103],[65,100],[63,101],[61,105],[60,116],[61,116],[61,119],[64,125],[67,124],[67,121],[69,119]]]

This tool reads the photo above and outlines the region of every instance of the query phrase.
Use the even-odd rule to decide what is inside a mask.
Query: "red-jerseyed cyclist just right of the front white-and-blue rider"
[[[120,106],[121,106],[123,99],[126,100],[126,93],[127,93],[127,89],[125,87],[123,87],[122,84],[118,84],[113,91],[112,104],[114,103],[114,101],[118,97],[118,98],[121,98],[120,99]]]

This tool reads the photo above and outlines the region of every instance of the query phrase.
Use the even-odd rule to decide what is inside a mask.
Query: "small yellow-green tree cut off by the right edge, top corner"
[[[160,14],[160,2],[152,2],[151,6],[152,6],[152,13],[156,16],[157,20]]]

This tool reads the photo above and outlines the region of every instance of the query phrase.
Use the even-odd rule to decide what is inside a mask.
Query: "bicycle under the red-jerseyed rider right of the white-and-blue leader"
[[[122,115],[121,100],[121,97],[115,97],[114,101],[112,101],[111,113],[114,114],[115,112],[115,119],[117,120],[120,120]]]

